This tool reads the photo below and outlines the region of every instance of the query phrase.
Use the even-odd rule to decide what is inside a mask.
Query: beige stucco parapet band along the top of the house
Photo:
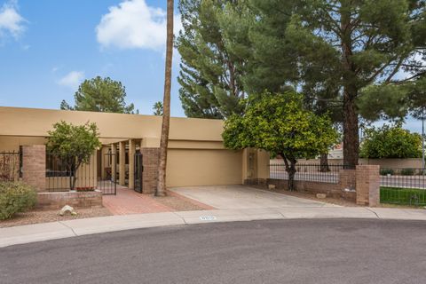
[[[0,106],[0,135],[44,137],[55,122],[96,122],[101,138],[160,138],[162,117]],[[172,117],[171,140],[222,141],[223,121]]]

